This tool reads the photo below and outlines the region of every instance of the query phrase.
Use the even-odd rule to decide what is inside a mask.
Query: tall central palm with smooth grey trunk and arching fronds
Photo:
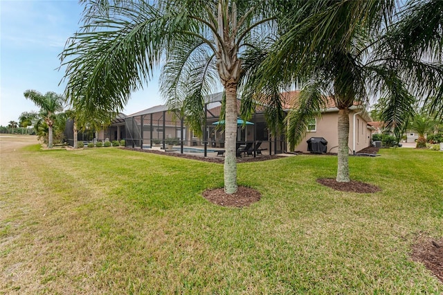
[[[277,1],[278,3],[278,1]],[[204,96],[221,84],[225,102],[224,188],[237,191],[237,96],[248,48],[273,36],[273,7],[262,0],[99,1],[61,55],[66,97],[83,116],[108,118],[163,63],[161,92],[202,134]],[[256,47],[255,47],[256,46]]]

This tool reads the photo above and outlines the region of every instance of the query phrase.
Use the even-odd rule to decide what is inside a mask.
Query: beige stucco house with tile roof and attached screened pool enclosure
[[[282,93],[285,111],[297,102],[300,91]],[[169,111],[166,105],[158,105],[125,118],[126,144],[133,147],[150,148],[156,142],[163,143],[168,138],[178,138],[184,146],[223,148],[224,129],[217,122],[221,113],[221,100],[223,93],[214,93],[206,98],[206,123],[202,126],[204,136],[198,138],[186,125],[186,118],[180,118],[179,114]],[[238,100],[239,109],[239,100]],[[349,150],[358,152],[370,145],[371,134],[374,128],[368,125],[371,121],[368,111],[363,105],[355,104],[350,108],[350,134]],[[237,142],[261,141],[261,147],[269,154],[278,154],[289,150],[289,145],[283,134],[272,136],[264,118],[264,107],[257,107],[249,125],[239,125]],[[323,137],[327,140],[327,152],[338,150],[338,109],[334,107],[334,101],[329,99],[321,116],[312,120],[307,129],[307,134],[296,151],[308,152],[307,140],[311,137]]]

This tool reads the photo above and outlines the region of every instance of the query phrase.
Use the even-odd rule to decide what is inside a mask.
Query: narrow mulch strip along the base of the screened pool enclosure
[[[179,157],[184,159],[192,159],[192,160],[198,160],[198,161],[204,161],[209,163],[224,163],[224,157],[203,157],[203,156],[195,156],[193,154],[180,154],[179,152],[163,152],[160,150],[150,150],[150,149],[144,149],[141,148],[132,148],[132,147],[123,147],[124,150],[134,150],[136,152],[148,152],[150,154],[162,154],[163,156],[171,156],[171,157]],[[262,156],[249,156],[249,157],[242,157],[237,158],[237,163],[245,163],[245,162],[258,162],[258,161],[268,161],[272,159],[280,159],[281,157],[276,156],[275,154],[269,156],[269,155],[262,155]]]

